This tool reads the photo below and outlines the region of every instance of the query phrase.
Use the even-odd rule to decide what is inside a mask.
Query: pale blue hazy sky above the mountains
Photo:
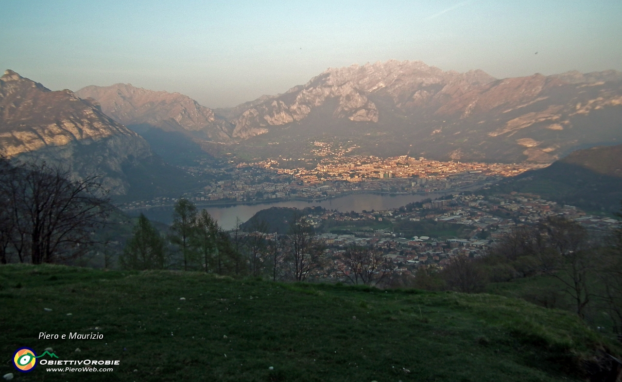
[[[620,0],[0,0],[0,9],[2,70],[52,90],[131,83],[208,107],[390,59],[496,78],[622,70]]]

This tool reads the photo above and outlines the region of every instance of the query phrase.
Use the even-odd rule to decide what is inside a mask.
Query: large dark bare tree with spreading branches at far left
[[[20,261],[34,264],[88,252],[95,243],[93,232],[105,224],[113,208],[98,176],[76,179],[69,170],[45,162],[18,166],[8,187],[12,248]]]

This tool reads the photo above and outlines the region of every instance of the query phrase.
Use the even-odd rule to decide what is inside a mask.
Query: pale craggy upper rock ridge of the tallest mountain
[[[336,99],[333,117],[355,122],[378,122],[379,110],[370,95],[391,99],[395,107],[408,109],[465,93],[473,86],[494,78],[483,71],[457,73],[442,71],[420,61],[374,63],[345,68],[329,68],[303,86],[279,96],[249,102],[248,109],[236,107],[230,115],[233,136],[247,139],[263,134],[269,126],[301,121],[309,113]]]

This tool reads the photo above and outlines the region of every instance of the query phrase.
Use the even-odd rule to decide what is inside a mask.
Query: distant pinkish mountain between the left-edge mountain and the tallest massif
[[[77,91],[81,98],[93,98],[114,121],[133,128],[141,125],[182,132],[195,139],[229,142],[233,125],[194,99],[180,93],[152,91],[131,84],[87,86]]]

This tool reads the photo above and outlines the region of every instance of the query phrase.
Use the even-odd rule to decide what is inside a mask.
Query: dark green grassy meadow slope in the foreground
[[[52,265],[0,266],[0,287],[0,375],[15,381],[579,381],[599,349],[620,352],[570,313],[490,294]],[[22,374],[22,346],[121,365]]]

